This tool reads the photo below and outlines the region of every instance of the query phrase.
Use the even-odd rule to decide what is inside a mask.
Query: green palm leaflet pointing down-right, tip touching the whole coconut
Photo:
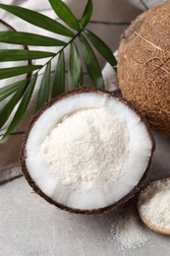
[[[95,33],[85,30],[85,34],[93,46],[99,51],[99,53],[110,63],[112,66],[117,65],[117,61],[113,55],[113,52],[107,46],[107,44],[101,40]]]

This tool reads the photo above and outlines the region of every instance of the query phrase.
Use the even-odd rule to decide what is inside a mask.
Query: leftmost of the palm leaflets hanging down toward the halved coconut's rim
[[[49,97],[49,84],[50,84],[50,70],[51,70],[51,62],[48,62],[46,65],[46,69],[44,71],[41,85],[39,88],[39,93],[36,100],[35,111],[39,110],[39,108],[46,102],[48,102]]]

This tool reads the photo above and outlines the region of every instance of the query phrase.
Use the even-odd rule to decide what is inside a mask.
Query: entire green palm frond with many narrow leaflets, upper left
[[[92,15],[92,0],[87,0],[85,11],[81,22],[75,17],[73,12],[62,0],[49,0],[54,12],[66,24],[62,24],[48,18],[37,12],[28,10],[19,6],[11,6],[0,3],[0,9],[4,9],[15,16],[23,19],[29,24],[41,28],[49,32],[71,37],[70,40],[59,40],[45,35],[35,34],[31,32],[0,32],[0,42],[21,45],[33,46],[61,46],[58,52],[49,52],[41,50],[28,49],[1,49],[0,62],[5,61],[22,61],[41,58],[50,58],[50,60],[43,65],[28,65],[17,66],[0,69],[0,79],[7,79],[10,77],[28,74],[36,70],[32,78],[22,80],[7,87],[0,89],[0,101],[11,96],[5,106],[0,110],[0,128],[4,126],[15,106],[20,102],[17,112],[5,134],[8,135],[21,121],[24,116],[29,100],[32,96],[37,74],[39,70],[46,67],[42,77],[39,88],[36,110],[38,110],[50,97],[58,96],[65,92],[65,55],[64,49],[70,46],[69,58],[69,88],[74,89],[83,84],[83,67],[81,55],[83,55],[86,71],[91,79],[92,85],[97,88],[104,88],[104,82],[101,74],[101,69],[96,59],[96,56],[91,48],[91,44],[100,52],[100,54],[112,65],[116,65],[116,61],[109,47],[93,32],[85,30],[85,26],[89,22]],[[70,27],[68,29],[67,27]],[[77,31],[72,32],[72,29]],[[83,33],[85,32],[85,36]],[[75,40],[79,37],[81,43],[81,51],[79,53]],[[58,56],[56,72],[52,85],[52,92],[50,93],[50,69],[51,61]]]

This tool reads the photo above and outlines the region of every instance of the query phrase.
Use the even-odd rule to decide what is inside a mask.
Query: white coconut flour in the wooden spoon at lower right
[[[151,182],[139,197],[139,211],[151,224],[170,229],[170,180]]]

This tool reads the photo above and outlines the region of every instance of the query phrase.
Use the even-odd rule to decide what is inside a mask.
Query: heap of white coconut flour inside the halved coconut
[[[70,189],[107,189],[129,157],[125,119],[107,108],[79,110],[63,118],[42,142],[49,173]]]

